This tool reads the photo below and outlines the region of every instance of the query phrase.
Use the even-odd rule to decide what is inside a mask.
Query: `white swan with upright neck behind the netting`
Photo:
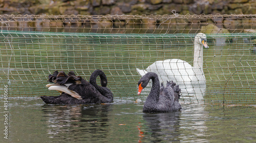
[[[203,99],[206,88],[203,72],[203,47],[209,48],[206,35],[198,33],[195,37],[194,46],[194,67],[180,59],[168,59],[156,61],[146,70],[137,69],[137,72],[141,76],[147,72],[155,72],[159,76],[160,82],[165,83],[167,80],[173,80],[180,85],[182,93],[196,93],[197,99]]]

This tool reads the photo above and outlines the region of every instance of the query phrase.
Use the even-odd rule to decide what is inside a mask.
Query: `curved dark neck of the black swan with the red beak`
[[[156,73],[151,73],[150,75],[148,75],[149,79],[152,79],[152,88],[151,88],[151,92],[148,95],[147,99],[146,99],[146,103],[157,103],[159,100],[159,94],[160,94],[160,82],[158,79],[158,75]]]

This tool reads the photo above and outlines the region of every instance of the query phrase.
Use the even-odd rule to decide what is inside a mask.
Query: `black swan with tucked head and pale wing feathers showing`
[[[101,86],[97,85],[96,78],[100,76]],[[91,104],[91,103],[111,103],[113,94],[106,88],[108,80],[101,70],[96,70],[90,77],[90,82],[76,76],[73,71],[69,74],[55,71],[49,75],[49,82],[46,87],[49,90],[56,90],[61,93],[59,96],[41,96],[45,103],[50,104]]]

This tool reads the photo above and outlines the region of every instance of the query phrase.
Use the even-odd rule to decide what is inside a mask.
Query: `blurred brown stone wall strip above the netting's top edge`
[[[256,14],[255,0],[0,0],[0,14]]]

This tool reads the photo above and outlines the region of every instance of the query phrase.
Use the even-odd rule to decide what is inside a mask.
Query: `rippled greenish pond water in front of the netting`
[[[92,105],[45,104],[39,97],[8,101],[8,139],[0,119],[5,142],[256,142],[255,106],[181,101],[179,112],[143,113],[143,102],[132,99]]]

